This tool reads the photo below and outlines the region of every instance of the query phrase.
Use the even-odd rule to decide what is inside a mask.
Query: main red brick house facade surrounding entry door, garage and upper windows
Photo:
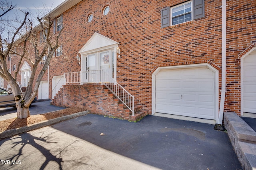
[[[119,43],[117,81],[151,111],[152,73],[159,66],[210,63],[219,70],[221,87],[222,4],[205,0],[205,17],[176,26],[161,28],[160,10],[186,0],[94,0],[81,1],[63,13],[65,32],[70,41],[63,44],[63,55],[50,64],[52,77],[80,71],[78,51],[95,33]],[[136,3],[135,3],[136,2]],[[240,113],[240,54],[255,43],[255,0],[227,0],[227,93],[224,109]],[[110,6],[104,16],[102,10]],[[93,14],[92,22],[87,17]],[[219,92],[220,98],[220,92]]]

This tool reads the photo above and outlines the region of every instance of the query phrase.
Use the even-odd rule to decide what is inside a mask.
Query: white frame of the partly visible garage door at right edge
[[[244,113],[244,98],[243,98],[243,93],[244,93],[244,77],[243,77],[243,69],[244,69],[244,58],[247,57],[248,55],[250,55],[251,53],[255,53],[256,52],[256,47],[252,48],[250,51],[248,51],[244,56],[241,57],[241,71],[240,71],[240,75],[241,75],[241,116],[246,116],[246,117],[252,117],[251,113]],[[255,115],[253,115],[255,116]],[[255,117],[256,118],[256,117]]]

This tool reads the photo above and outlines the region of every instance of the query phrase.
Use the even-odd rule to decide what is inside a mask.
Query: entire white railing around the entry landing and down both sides
[[[90,70],[82,72],[64,73],[56,86],[52,89],[52,98],[65,84],[83,83],[104,84],[134,115],[134,96],[125,90],[114,78],[110,77],[104,70]]]

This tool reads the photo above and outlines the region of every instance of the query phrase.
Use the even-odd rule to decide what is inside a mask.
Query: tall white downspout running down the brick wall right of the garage
[[[222,67],[221,67],[221,96],[220,112],[217,124],[222,125],[226,95],[226,0],[222,0]]]

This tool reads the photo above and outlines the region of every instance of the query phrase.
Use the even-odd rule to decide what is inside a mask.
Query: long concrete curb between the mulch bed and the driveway
[[[39,122],[39,123],[35,123],[33,125],[28,125],[28,126],[24,126],[24,127],[19,127],[17,129],[10,129],[8,131],[3,131],[3,132],[0,132],[0,139],[4,139],[6,137],[11,137],[11,136],[14,136],[14,135],[18,135],[20,133],[24,133],[24,132],[32,131],[32,130],[35,130],[35,129],[39,129],[39,128],[42,128],[42,127],[45,127],[45,126],[53,125],[55,123],[59,123],[61,121],[72,119],[74,117],[86,115],[88,112],[89,111],[86,110],[86,111],[74,113],[74,114],[71,114],[71,115],[56,117],[54,119],[42,121],[42,122]]]

